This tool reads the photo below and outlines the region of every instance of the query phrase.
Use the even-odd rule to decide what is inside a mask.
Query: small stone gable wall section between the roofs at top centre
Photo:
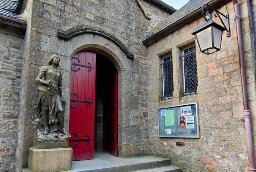
[[[169,17],[172,13],[166,12],[157,5],[153,4],[148,0],[138,0],[141,4],[145,14],[150,17],[150,25],[148,26],[148,31],[153,27],[157,26],[158,23]]]

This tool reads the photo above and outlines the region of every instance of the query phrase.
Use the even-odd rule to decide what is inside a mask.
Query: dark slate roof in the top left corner
[[[15,9],[18,5],[18,0],[0,0],[0,14],[13,17],[15,19],[21,19],[19,13],[15,13]]]

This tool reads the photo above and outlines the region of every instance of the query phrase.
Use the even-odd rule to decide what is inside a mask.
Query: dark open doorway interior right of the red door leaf
[[[105,56],[96,59],[94,150],[117,156],[117,70]]]

